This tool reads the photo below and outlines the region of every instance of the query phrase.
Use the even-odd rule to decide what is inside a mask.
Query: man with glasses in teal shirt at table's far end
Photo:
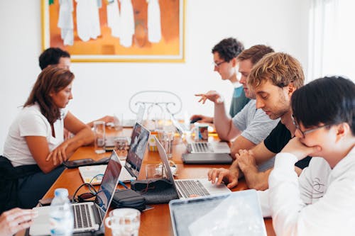
[[[236,74],[238,62],[236,57],[244,50],[244,45],[236,38],[225,38],[212,48],[214,71],[221,75],[222,80],[229,80],[234,86],[231,99],[229,115],[234,117],[249,102],[243,91],[243,86],[239,83]],[[190,120],[198,120],[201,123],[214,123],[214,118],[203,115],[193,115]]]

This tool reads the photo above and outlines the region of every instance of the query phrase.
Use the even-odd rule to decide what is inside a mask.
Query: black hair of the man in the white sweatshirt
[[[316,79],[293,93],[291,106],[295,120],[305,128],[345,122],[355,135],[355,84],[350,79]]]

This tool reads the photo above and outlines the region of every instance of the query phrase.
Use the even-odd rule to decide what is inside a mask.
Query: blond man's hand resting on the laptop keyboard
[[[238,184],[239,169],[213,168],[208,172],[208,180],[212,184],[226,184],[228,189],[233,189]],[[217,179],[217,181],[216,181]]]

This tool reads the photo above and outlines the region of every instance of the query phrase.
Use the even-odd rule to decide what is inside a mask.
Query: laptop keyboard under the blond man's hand
[[[178,185],[182,196],[190,198],[191,196],[208,196],[210,195],[207,189],[204,188],[202,183],[197,179],[188,179],[182,181],[175,181]]]

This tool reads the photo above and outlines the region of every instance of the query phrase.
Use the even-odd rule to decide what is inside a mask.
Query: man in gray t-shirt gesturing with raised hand
[[[199,94],[203,103],[209,99],[214,102],[214,125],[221,140],[234,140],[231,145],[231,154],[234,157],[239,150],[249,150],[264,140],[271,130],[275,128],[278,120],[271,120],[261,109],[256,109],[255,94],[246,86],[246,79],[258,60],[273,52],[271,47],[266,45],[255,45],[239,54],[239,72],[241,73],[240,83],[244,92],[251,99],[244,108],[230,118],[226,114],[223,97],[217,91],[208,91],[207,94]]]

